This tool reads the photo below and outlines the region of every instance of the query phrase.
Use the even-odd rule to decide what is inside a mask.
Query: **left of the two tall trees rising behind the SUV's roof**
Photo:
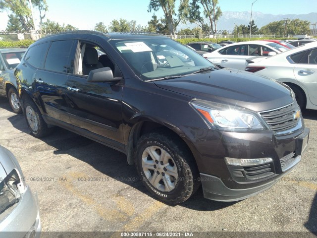
[[[176,0],[150,0],[148,11],[158,11],[162,8],[165,21],[168,26],[168,34],[175,37],[175,30],[181,21],[184,21],[189,15],[189,0],[180,0],[178,14],[175,13]],[[176,18],[174,18],[176,17]]]

